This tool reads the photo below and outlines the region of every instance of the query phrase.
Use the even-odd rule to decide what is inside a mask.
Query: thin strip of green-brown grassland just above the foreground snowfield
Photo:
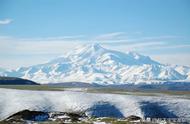
[[[64,91],[75,89],[74,87],[63,87],[55,85],[0,85],[0,88],[18,89],[18,90],[37,90],[37,91]],[[77,89],[77,88],[76,88]],[[81,88],[82,89],[82,88]],[[82,90],[81,90],[82,92]],[[186,96],[190,98],[190,91],[170,91],[170,90],[127,90],[119,88],[84,88],[88,93],[108,93],[120,95],[137,95],[137,96],[159,96],[161,94]]]

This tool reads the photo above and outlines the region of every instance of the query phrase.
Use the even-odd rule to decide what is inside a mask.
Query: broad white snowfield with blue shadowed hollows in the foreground
[[[190,118],[190,99],[79,91],[0,89],[0,120],[24,110],[84,112],[88,116]]]

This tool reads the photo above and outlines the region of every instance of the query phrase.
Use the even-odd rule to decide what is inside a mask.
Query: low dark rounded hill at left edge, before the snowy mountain
[[[0,85],[38,85],[37,83],[16,77],[0,77]]]

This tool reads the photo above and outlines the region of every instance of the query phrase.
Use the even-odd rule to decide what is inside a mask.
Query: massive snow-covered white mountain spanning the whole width
[[[190,67],[169,66],[135,52],[122,53],[99,44],[79,47],[44,64],[0,73],[39,83],[158,83],[190,79]]]

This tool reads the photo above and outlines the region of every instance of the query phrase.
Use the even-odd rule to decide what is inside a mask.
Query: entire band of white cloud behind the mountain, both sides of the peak
[[[126,33],[115,32],[99,35],[96,38],[98,37],[102,40],[97,40],[97,43],[100,43],[105,48],[123,52],[136,51],[140,54],[150,55],[150,57],[153,56],[154,59],[161,63],[190,65],[188,51],[180,53],[183,48],[190,48],[190,44],[168,45],[168,42],[165,42],[165,39],[171,39],[174,36],[127,39]],[[57,56],[65,55],[65,53],[73,50],[78,45],[92,43],[93,39],[84,35],[27,39],[0,36],[0,66],[15,68],[43,63],[44,60],[47,61]],[[167,51],[165,54],[163,52],[159,53],[164,49],[176,49],[179,52],[175,55],[169,54]],[[155,53],[155,51],[158,53]],[[179,58],[180,60],[178,60]]]

